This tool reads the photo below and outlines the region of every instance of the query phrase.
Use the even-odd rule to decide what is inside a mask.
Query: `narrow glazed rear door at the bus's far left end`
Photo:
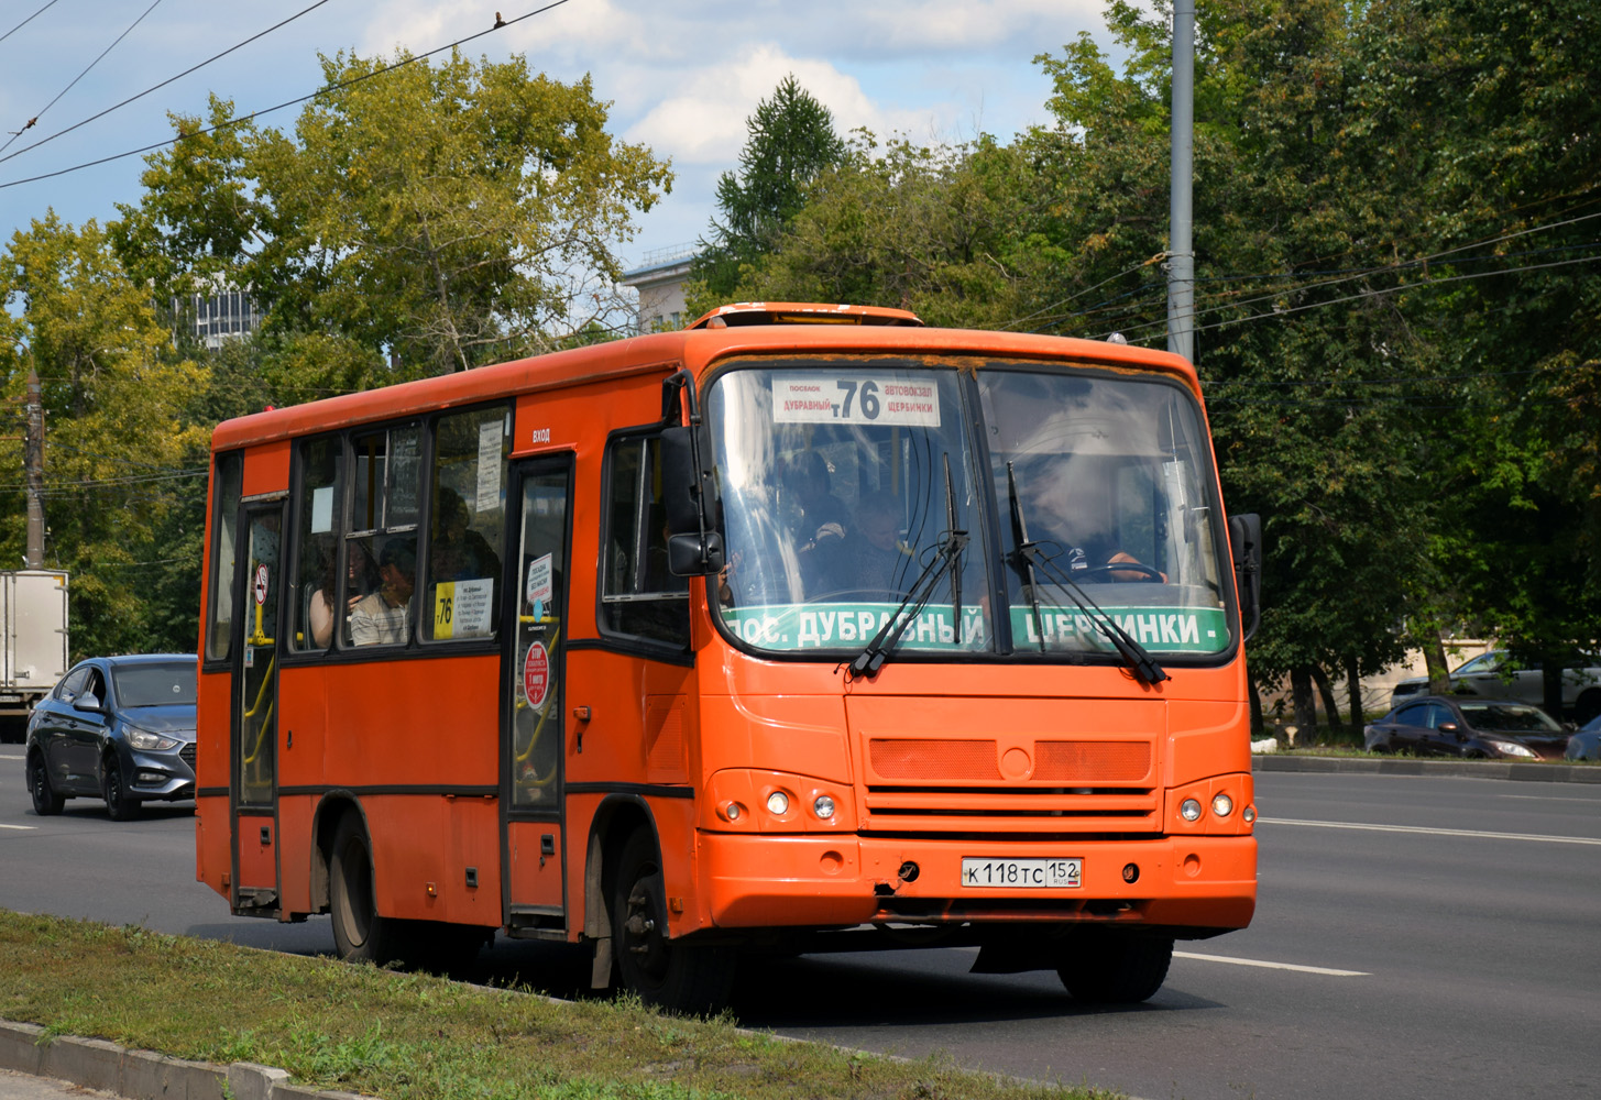
[[[234,708],[229,794],[234,836],[235,913],[275,916],[277,860],[277,701],[279,584],[283,501],[247,503],[242,511],[247,552],[234,584]]]

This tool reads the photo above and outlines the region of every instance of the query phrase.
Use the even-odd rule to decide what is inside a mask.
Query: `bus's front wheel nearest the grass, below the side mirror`
[[[668,938],[661,860],[648,833],[634,833],[618,860],[612,895],[612,953],[623,988],[645,1004],[711,1015],[728,1004],[735,954]]]

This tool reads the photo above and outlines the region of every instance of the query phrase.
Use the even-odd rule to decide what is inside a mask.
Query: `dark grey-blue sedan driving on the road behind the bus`
[[[114,821],[150,799],[195,793],[195,658],[186,653],[94,656],[67,671],[27,722],[34,810],[106,799]]]

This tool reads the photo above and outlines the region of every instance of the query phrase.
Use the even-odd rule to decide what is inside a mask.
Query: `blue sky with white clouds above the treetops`
[[[562,0],[530,14],[546,5],[0,0],[0,234],[10,240],[51,208],[72,224],[115,218],[115,203],[138,202],[144,167],[141,155],[118,154],[170,139],[167,112],[205,114],[208,93],[232,99],[239,114],[274,107],[315,91],[319,53],[426,53],[488,30],[500,14],[509,26],[466,45],[469,58],[520,53],[556,80],[588,74],[596,98],[612,104],[610,133],[671,159],[672,192],[637,215],[637,235],[616,247],[634,267],[706,232],[717,176],[738,167],[746,118],[786,74],[833,110],[841,133],[1009,139],[1049,120],[1050,82],[1036,54],[1060,54],[1084,30],[1109,45],[1101,0]],[[299,110],[258,123],[288,131]],[[24,130],[29,118],[37,123]],[[106,157],[117,159],[62,173]],[[35,176],[46,178],[22,183]]]

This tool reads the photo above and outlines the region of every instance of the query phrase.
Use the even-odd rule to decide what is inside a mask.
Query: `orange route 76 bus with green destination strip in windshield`
[[[977,946],[1138,1001],[1255,906],[1255,517],[1194,370],[727,306],[213,437],[197,877],[450,966]]]

